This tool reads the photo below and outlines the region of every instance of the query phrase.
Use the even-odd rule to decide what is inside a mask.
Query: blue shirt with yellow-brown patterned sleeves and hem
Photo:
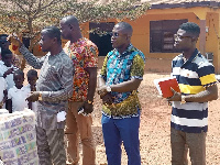
[[[116,48],[108,53],[100,75],[105,79],[106,85],[117,85],[133,78],[143,79],[144,63],[144,54],[130,44],[122,54]],[[116,118],[138,116],[138,110],[141,109],[141,107],[136,91],[112,91],[111,95],[113,105],[103,106],[103,113],[106,116]]]

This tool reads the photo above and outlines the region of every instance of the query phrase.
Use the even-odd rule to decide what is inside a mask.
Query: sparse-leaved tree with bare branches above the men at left
[[[79,22],[100,22],[108,19],[134,20],[146,12],[147,3],[136,0],[99,0],[79,2],[77,0],[1,0],[0,31],[18,33],[31,38],[30,50],[37,41],[37,34],[46,25],[58,25],[61,18],[74,14]]]

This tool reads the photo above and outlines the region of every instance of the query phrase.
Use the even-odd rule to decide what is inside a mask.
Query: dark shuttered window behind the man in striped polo
[[[175,53],[174,34],[182,23],[188,20],[163,20],[150,22],[150,52]]]

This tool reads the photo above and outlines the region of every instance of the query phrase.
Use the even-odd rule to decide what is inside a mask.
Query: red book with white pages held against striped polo
[[[180,92],[178,82],[175,77],[154,79],[154,84],[160,95],[162,95],[164,98],[169,98],[173,96],[173,91],[170,88],[173,88],[177,92]]]

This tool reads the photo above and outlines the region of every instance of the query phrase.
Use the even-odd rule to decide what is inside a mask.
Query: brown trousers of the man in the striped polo
[[[191,165],[206,165],[206,132],[186,133],[172,128],[172,165],[185,165],[187,146]]]

